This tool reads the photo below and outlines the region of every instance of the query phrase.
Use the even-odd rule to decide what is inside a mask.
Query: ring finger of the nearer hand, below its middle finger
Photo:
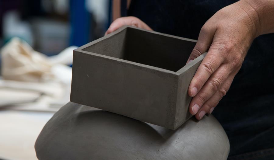
[[[213,112],[219,101],[226,95],[235,75],[235,73],[231,74],[218,91],[202,105],[201,109],[195,115],[197,120],[201,120],[206,113],[211,114]]]

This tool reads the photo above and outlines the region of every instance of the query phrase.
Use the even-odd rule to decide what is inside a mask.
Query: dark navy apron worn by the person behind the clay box
[[[203,24],[233,0],[132,0],[136,16],[157,32],[198,39]],[[274,158],[274,34],[257,37],[213,115],[230,140],[231,159]],[[229,158],[229,159],[230,159]]]

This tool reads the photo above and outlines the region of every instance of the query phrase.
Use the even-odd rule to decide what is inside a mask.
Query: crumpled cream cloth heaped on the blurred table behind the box
[[[1,50],[2,78],[25,82],[70,83],[71,68],[65,64],[72,64],[72,50],[76,48],[71,46],[56,56],[48,57],[14,37]]]

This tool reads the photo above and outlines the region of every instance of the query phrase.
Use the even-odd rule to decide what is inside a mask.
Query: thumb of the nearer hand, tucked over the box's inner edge
[[[201,54],[205,53],[209,49],[215,32],[216,32],[216,29],[213,27],[207,27],[207,25],[204,25],[202,27],[198,37],[198,41],[194,49],[192,50],[186,64],[188,64],[188,62],[194,60]]]

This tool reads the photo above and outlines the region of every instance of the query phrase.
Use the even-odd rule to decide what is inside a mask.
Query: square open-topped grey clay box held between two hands
[[[74,50],[70,100],[174,130],[191,117],[195,43],[124,26]]]

